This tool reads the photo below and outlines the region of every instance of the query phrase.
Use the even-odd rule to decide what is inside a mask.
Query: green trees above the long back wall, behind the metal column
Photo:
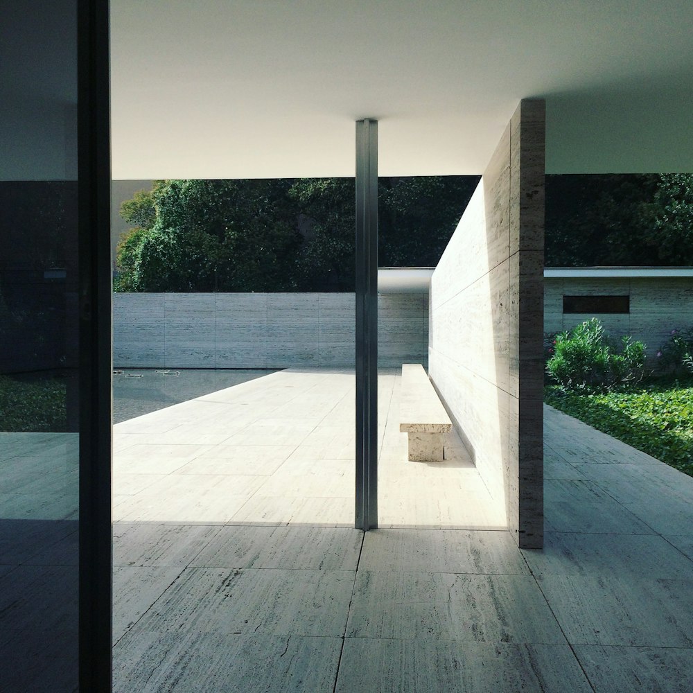
[[[435,265],[477,177],[380,179],[380,266]],[[121,206],[116,291],[349,291],[351,178],[165,180]]]

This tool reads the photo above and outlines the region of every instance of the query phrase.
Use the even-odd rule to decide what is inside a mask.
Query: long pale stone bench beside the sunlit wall
[[[443,434],[453,424],[420,363],[402,364],[399,420],[412,462],[442,461]]]

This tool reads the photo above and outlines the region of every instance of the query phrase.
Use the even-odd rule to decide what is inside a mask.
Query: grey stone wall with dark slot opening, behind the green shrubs
[[[566,296],[630,296],[631,312],[563,314]],[[631,335],[647,345],[649,358],[671,336],[672,330],[693,325],[693,277],[547,277],[544,280],[544,332],[569,330],[598,317],[609,336]]]

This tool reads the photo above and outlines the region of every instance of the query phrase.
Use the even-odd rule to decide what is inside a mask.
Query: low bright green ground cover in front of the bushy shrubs
[[[593,393],[550,385],[544,401],[693,476],[693,380]]]

